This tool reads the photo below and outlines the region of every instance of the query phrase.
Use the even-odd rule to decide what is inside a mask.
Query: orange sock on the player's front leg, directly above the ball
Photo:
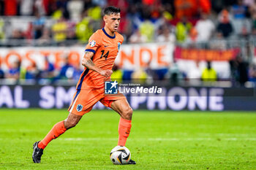
[[[127,142],[127,137],[129,136],[129,131],[132,128],[132,120],[126,120],[120,117],[118,125],[118,145],[125,146]]]

